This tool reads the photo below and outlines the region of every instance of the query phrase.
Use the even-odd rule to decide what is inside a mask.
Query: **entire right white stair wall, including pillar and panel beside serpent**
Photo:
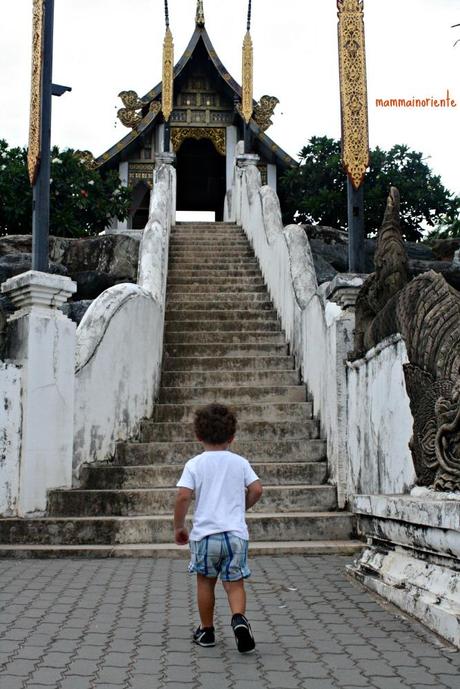
[[[278,197],[260,186],[257,159],[239,156],[227,218],[239,222],[260,261],[274,304],[328,442],[330,481],[341,507],[360,492],[403,493],[415,483],[412,415],[401,338],[347,367],[358,276],[318,287],[303,228],[283,228]]]

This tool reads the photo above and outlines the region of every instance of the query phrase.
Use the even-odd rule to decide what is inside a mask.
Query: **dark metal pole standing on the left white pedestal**
[[[32,270],[49,268],[51,98],[53,80],[54,0],[45,0],[40,167],[33,187]]]

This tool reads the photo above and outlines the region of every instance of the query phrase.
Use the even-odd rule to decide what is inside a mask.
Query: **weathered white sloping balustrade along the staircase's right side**
[[[241,160],[242,158],[242,160]],[[240,157],[227,196],[226,217],[240,223],[259,259],[292,353],[313,397],[328,441],[330,481],[341,507],[347,500],[346,370],[353,312],[329,302],[319,288],[308,238],[298,225],[283,227],[276,193],[260,186],[251,157]]]

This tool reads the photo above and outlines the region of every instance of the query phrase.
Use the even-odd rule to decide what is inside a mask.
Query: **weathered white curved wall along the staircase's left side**
[[[83,463],[113,456],[152,414],[163,353],[169,232],[175,171],[156,172],[150,216],[139,252],[137,285],[106,290],[77,330],[74,474]]]

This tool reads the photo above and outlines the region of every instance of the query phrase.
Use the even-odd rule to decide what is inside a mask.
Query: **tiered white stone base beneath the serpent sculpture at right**
[[[460,502],[359,495],[354,511],[368,546],[350,574],[460,648]]]

